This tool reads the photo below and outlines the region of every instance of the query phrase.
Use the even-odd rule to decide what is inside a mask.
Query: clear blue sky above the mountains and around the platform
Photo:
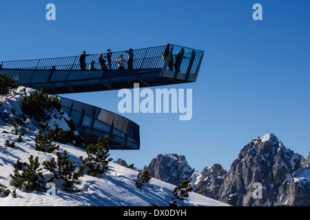
[[[56,5],[56,21],[45,6]],[[254,21],[254,3],[262,21]],[[310,151],[310,1],[3,1],[0,61],[97,54],[173,43],[205,56],[193,89],[193,117],[126,113],[141,126],[140,151],[111,151],[141,168],[159,153],[185,155],[202,171],[229,169],[252,138],[274,133]],[[152,88],[156,89],[156,88]],[[118,113],[118,91],[65,97]]]

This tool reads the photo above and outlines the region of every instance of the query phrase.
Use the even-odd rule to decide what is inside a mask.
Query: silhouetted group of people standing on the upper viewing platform
[[[167,56],[169,55],[170,52],[170,44],[167,43],[166,47],[165,47],[165,51],[163,52],[163,62],[165,63]],[[134,50],[132,50],[131,48],[129,50],[126,50],[125,53],[128,54],[128,58],[127,58],[127,69],[132,69],[133,68],[133,64],[134,64]],[[90,54],[86,54],[85,51],[83,51],[83,53],[80,56],[80,68],[82,70],[85,70],[87,65],[85,63],[85,58],[86,56],[90,56]],[[175,58],[174,58],[175,56]],[[169,57],[169,61],[168,61],[168,69],[170,71],[174,71],[176,70],[177,66],[178,66],[178,62],[180,60],[180,52],[177,52],[176,55],[173,55]],[[186,57],[185,57],[186,58]],[[99,65],[100,65],[100,69],[112,69],[112,52],[110,49],[107,50],[107,55],[103,56],[103,54],[99,54]],[[96,62],[92,61],[90,63],[90,65],[88,66],[88,69],[92,70],[95,69],[94,68],[94,64]],[[118,65],[118,69],[125,69],[125,65],[126,65],[126,61],[123,58],[123,54],[120,54],[118,56],[118,58],[116,58],[115,63],[117,63]]]

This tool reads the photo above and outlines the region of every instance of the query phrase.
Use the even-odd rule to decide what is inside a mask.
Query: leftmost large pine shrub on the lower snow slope
[[[13,185],[16,188],[24,187],[26,191],[40,190],[41,184],[44,182],[43,173],[39,168],[39,157],[30,155],[29,164],[21,163],[19,159],[14,164],[14,175],[12,177]]]

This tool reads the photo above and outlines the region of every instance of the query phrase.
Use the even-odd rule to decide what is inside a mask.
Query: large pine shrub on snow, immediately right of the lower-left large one
[[[56,179],[63,179],[65,181],[63,186],[66,191],[69,191],[72,184],[74,184],[79,177],[83,177],[83,169],[85,166],[80,165],[79,170],[76,171],[76,165],[67,156],[67,151],[64,151],[63,155],[61,155],[60,152],[56,152],[56,156],[57,160],[52,157],[52,159],[43,162],[43,166],[46,170],[52,172]]]

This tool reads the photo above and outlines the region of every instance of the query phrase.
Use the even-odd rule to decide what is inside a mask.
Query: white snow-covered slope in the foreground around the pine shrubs
[[[28,90],[30,91],[30,90]],[[1,110],[7,111],[6,115],[11,115],[12,120],[16,120],[15,116],[25,119],[25,115],[21,112],[21,94],[22,89],[12,93],[12,96],[1,98]],[[4,110],[5,108],[6,110]],[[13,115],[14,113],[14,115]],[[3,115],[2,115],[3,116]],[[0,118],[1,119],[1,118]],[[35,122],[26,122],[26,124],[36,124]],[[56,123],[56,122],[54,122]],[[10,124],[0,123],[0,184],[5,186],[11,192],[14,190],[12,186],[12,178],[14,163],[19,159],[21,162],[28,163],[30,155],[39,157],[39,163],[56,157],[56,153],[44,153],[35,149],[34,135],[38,132],[34,129],[35,125],[28,127],[23,142],[17,140],[18,135],[12,133],[13,127]],[[5,131],[6,133],[3,133]],[[15,142],[14,148],[5,146],[6,140]],[[67,151],[68,157],[76,163],[78,167],[81,162],[79,157],[87,157],[85,151],[71,145],[59,144],[59,151]],[[52,173],[43,169],[45,183]],[[150,206],[156,203],[157,206],[168,206],[172,201],[172,191],[175,186],[167,184],[164,181],[152,178],[149,183],[144,184],[138,189],[134,180],[138,172],[130,168],[125,168],[114,162],[109,163],[109,168],[102,175],[92,177],[85,175],[79,178],[77,188],[81,190],[79,193],[65,192],[62,183],[55,179],[56,195],[50,196],[44,190],[41,192],[26,192],[25,190],[16,190],[17,198],[8,195],[0,197],[0,206]],[[0,194],[1,196],[1,194]],[[189,193],[189,197],[184,201],[178,201],[178,206],[228,206],[225,203],[210,199],[194,192]]]

